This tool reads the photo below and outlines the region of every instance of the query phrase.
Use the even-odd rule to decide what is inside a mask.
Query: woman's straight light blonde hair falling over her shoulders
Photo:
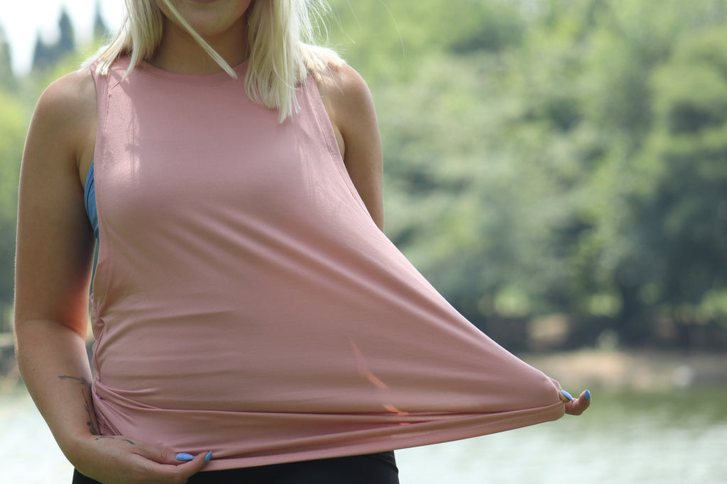
[[[230,76],[230,65],[207,44],[177,12],[169,0],[162,0],[202,49]],[[135,66],[149,60],[161,41],[164,14],[155,0],[124,0],[126,15],[119,32],[86,65],[97,62],[97,75],[107,75],[117,58],[130,57],[129,75]],[[245,91],[250,99],[278,110],[282,122],[298,109],[295,91],[309,73],[320,79],[342,60],[331,49],[318,46],[325,0],[253,0],[246,13],[249,61]]]

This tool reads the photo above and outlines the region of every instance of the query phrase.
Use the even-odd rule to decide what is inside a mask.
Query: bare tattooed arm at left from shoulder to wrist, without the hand
[[[88,118],[80,92],[70,94],[84,87],[79,81],[64,78],[41,97],[23,153],[18,202],[17,360],[62,448],[79,432],[98,433],[86,408],[90,389],[81,384],[91,382],[84,343],[93,241],[76,169],[81,134],[69,129]]]

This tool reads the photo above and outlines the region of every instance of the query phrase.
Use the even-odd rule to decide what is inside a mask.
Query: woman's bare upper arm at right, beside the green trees
[[[383,230],[383,155],[371,92],[348,65],[335,67],[320,88],[348,175],[371,218]]]

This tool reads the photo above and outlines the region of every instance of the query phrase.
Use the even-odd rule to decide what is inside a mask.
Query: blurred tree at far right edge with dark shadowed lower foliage
[[[683,36],[654,71],[656,120],[634,160],[632,220],[623,227],[648,247],[635,294],[686,345],[695,328],[719,320],[706,298],[727,292],[726,41],[726,27]]]

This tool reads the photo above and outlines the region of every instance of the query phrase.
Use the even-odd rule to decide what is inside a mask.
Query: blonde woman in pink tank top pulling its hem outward
[[[394,448],[589,404],[384,237],[371,96],[302,44],[313,3],[126,0],[116,40],[39,100],[17,358],[76,482],[393,483]]]

